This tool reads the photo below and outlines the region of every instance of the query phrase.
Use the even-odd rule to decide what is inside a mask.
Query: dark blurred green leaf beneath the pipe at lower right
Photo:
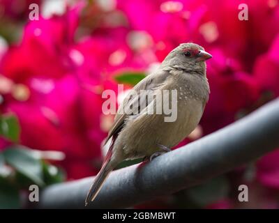
[[[227,197],[229,182],[225,176],[213,178],[202,185],[186,190],[188,197],[200,207]]]

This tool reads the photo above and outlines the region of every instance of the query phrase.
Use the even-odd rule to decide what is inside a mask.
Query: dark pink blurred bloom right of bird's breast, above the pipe
[[[243,72],[241,63],[212,49],[207,77],[211,88],[209,102],[202,118],[204,133],[223,128],[236,120],[239,112],[250,109],[259,98],[259,86],[252,75]]]

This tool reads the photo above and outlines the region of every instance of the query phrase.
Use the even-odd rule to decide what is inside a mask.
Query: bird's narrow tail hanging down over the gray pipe
[[[85,206],[87,206],[87,204],[90,201],[93,201],[96,198],[98,192],[100,192],[100,189],[102,188],[103,184],[105,183],[105,180],[107,179],[107,177],[109,176],[113,168],[114,167],[112,167],[112,165],[110,164],[110,160],[107,160],[107,162],[103,164],[103,167],[100,169],[100,172],[97,174],[95,181],[91,185],[91,188],[86,196]]]

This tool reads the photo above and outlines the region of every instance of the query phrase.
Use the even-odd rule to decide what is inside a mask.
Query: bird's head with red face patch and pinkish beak
[[[211,54],[195,43],[182,43],[166,56],[162,65],[168,68],[205,73],[205,61],[211,57]]]

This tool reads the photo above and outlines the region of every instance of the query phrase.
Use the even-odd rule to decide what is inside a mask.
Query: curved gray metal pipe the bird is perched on
[[[113,171],[89,208],[127,208],[197,185],[279,147],[279,99],[152,162]],[[51,185],[36,208],[84,208],[93,177]]]

